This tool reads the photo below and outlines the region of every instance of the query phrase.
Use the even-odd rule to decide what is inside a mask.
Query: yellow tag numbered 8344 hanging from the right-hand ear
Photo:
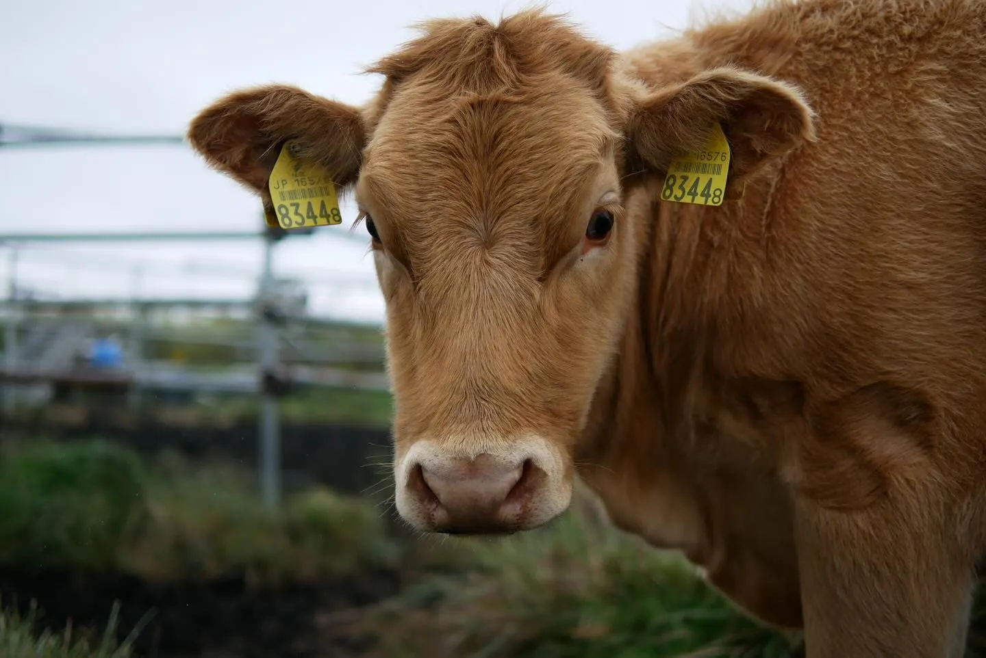
[[[704,150],[671,161],[661,198],[700,206],[721,206],[726,195],[730,156],[729,142],[717,123]]]

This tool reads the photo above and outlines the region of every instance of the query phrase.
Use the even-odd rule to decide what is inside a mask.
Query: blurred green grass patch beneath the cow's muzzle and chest
[[[472,568],[430,578],[358,625],[375,658],[786,658],[797,635],[743,616],[676,554],[618,534],[585,507],[549,528],[458,540]]]

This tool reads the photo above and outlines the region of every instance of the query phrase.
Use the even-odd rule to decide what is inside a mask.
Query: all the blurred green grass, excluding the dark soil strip
[[[684,559],[612,530],[584,499],[544,529],[498,539],[397,544],[381,515],[318,488],[268,510],[235,469],[147,464],[102,441],[0,452],[0,563],[258,584],[417,567],[398,596],[340,616],[337,632],[375,640],[367,658],[800,655],[798,634],[753,622]],[[986,648],[982,597],[973,619],[970,657]],[[35,632],[33,618],[9,614],[0,657],[129,658],[111,636]]]

